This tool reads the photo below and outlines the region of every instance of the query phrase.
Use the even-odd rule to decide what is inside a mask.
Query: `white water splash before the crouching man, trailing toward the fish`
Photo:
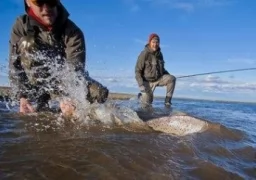
[[[61,56],[50,58],[46,56],[45,52],[39,51],[35,54],[26,53],[26,57],[24,58],[24,65],[30,65],[31,59],[36,61],[38,64],[44,62],[44,64],[41,63],[42,65],[29,69],[26,73],[30,76],[30,79],[33,80],[34,74],[47,67],[49,76],[44,79],[37,79],[37,81],[44,82],[44,91],[53,92],[54,88],[57,88],[58,91],[63,92],[61,95],[54,95],[54,100],[57,102],[71,101],[76,107],[76,121],[83,124],[91,124],[93,121],[98,121],[106,125],[141,121],[141,119],[137,117],[136,112],[131,108],[117,107],[111,103],[90,104],[87,101],[88,78],[86,74],[76,72],[74,70],[74,66],[70,63],[59,63],[63,61]],[[66,62],[65,59],[64,61]],[[55,87],[55,82],[57,82],[57,87]],[[15,88],[18,90],[17,87],[14,87],[14,90]]]

